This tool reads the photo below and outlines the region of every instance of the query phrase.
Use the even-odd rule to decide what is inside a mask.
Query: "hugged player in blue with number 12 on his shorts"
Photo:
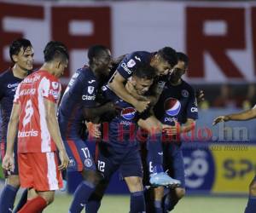
[[[143,95],[154,82],[154,77],[155,70],[153,67],[138,66],[137,70],[132,74],[131,83],[134,84],[137,93]],[[126,87],[126,89],[131,92],[131,88]],[[113,101],[114,105],[120,109],[119,114],[108,122],[108,131],[103,132],[105,134],[103,135],[103,140],[97,143],[96,147],[98,150],[96,163],[98,170],[104,176],[103,184],[105,184],[101,188],[102,196],[104,189],[107,187],[106,182],[108,183],[113,173],[119,170],[131,193],[130,212],[145,212],[143,169],[139,144],[136,140],[137,121],[140,120],[140,113],[131,104],[115,95],[108,88],[108,85],[102,87],[102,90],[105,98]],[[98,202],[97,205],[92,206],[89,204],[86,212],[97,212],[102,199],[101,193],[97,192],[98,198],[95,198],[95,202]]]

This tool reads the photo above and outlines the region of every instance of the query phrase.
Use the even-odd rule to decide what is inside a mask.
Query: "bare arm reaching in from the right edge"
[[[241,120],[249,120],[253,118],[256,118],[256,107],[253,107],[252,109],[249,109],[244,112],[218,116],[213,120],[212,125],[218,124],[219,122],[226,122],[230,120],[241,121]]]

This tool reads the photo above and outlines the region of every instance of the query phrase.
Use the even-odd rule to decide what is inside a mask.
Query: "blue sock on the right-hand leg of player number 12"
[[[144,199],[144,192],[131,193],[130,213],[146,212],[146,204]]]

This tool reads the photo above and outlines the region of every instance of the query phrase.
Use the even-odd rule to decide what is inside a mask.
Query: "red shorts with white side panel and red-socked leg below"
[[[55,190],[62,187],[56,153],[19,154],[19,169],[21,187],[29,188],[19,213],[41,212],[53,202]]]

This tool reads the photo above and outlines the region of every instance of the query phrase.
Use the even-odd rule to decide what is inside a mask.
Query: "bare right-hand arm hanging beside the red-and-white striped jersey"
[[[59,150],[59,156],[61,159],[59,170],[63,170],[67,168],[69,164],[69,158],[67,157],[67,153],[61,139],[61,132],[56,118],[55,103],[53,101],[44,99],[44,107],[46,112],[45,119],[49,130],[49,135],[53,141],[55,141],[55,145]]]

